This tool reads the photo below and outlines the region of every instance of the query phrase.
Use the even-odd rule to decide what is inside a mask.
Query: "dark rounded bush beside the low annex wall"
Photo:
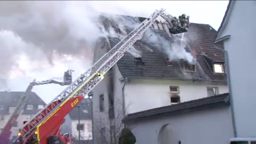
[[[136,142],[136,138],[129,128],[122,130],[120,138],[119,143],[121,142],[121,144],[134,144]]]

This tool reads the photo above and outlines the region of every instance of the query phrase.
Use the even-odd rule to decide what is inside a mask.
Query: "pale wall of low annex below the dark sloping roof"
[[[164,115],[131,121],[127,126],[136,144],[163,144],[157,138],[163,125],[169,124],[168,144],[228,144],[233,137],[229,107],[211,108],[186,114]],[[159,140],[160,141],[160,140]],[[165,144],[165,143],[164,143]]]

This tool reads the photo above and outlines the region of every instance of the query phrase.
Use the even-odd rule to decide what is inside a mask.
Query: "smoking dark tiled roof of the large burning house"
[[[129,19],[131,18],[129,17]],[[138,18],[137,20],[141,21],[143,19]],[[109,25],[109,23],[110,21],[108,21],[106,25]],[[160,21],[160,23],[155,23],[161,25],[162,22]],[[131,28],[125,28],[127,33],[132,31]],[[156,28],[156,26],[151,26],[149,29],[169,42],[172,42],[172,40],[175,39],[175,36],[177,36],[169,36],[166,30],[160,29],[159,27]],[[167,54],[154,44],[150,44],[143,40],[138,40],[133,44],[133,47],[140,52],[140,61],[142,60],[143,62],[136,62],[137,60],[134,55],[129,52],[125,52],[124,56],[117,62],[117,66],[123,77],[129,79],[192,79],[226,82],[225,73],[214,73],[212,69],[214,62],[225,62],[224,52],[214,48],[213,46],[213,38],[215,34],[216,30],[210,25],[196,23],[191,23],[189,25],[188,32],[184,34],[184,37],[188,39],[186,40],[186,52],[193,54],[197,61],[195,64],[195,71],[184,70],[181,65],[181,60],[172,61],[172,66],[167,66],[165,60],[165,58],[168,57]],[[119,37],[108,37],[111,47],[114,47],[120,40],[121,38]],[[223,48],[223,44],[218,44],[216,46]]]

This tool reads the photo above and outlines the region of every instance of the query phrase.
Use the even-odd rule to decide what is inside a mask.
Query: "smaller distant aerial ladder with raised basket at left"
[[[31,83],[29,83],[27,90],[25,93],[21,96],[20,101],[18,102],[18,105],[14,109],[14,112],[10,116],[9,120],[5,124],[4,128],[2,129],[2,132],[0,134],[0,143],[2,144],[7,144],[10,142],[9,138],[11,135],[11,128],[13,123],[17,120],[18,116],[20,115],[21,111],[25,107],[29,94],[32,91],[33,86],[35,85],[43,85],[43,84],[60,84],[60,85],[69,85],[72,83],[72,71],[73,70],[67,70],[64,72],[63,76],[63,82],[56,81],[54,79],[57,78],[52,78],[46,81],[38,81],[36,82],[36,79],[34,79]]]

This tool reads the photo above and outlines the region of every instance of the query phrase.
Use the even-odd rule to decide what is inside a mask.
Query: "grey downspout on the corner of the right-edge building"
[[[225,58],[226,58],[226,70],[228,74],[228,90],[229,90],[229,99],[230,99],[230,106],[231,106],[231,117],[232,117],[232,125],[233,125],[233,130],[234,130],[234,136],[237,136],[236,133],[236,124],[235,124],[235,116],[234,116],[234,107],[233,107],[233,98],[232,98],[232,89],[231,89],[231,81],[230,81],[230,72],[229,72],[229,64],[228,64],[228,51],[223,50],[221,48],[218,48],[215,44],[213,45],[214,48],[221,50],[225,53]]]

